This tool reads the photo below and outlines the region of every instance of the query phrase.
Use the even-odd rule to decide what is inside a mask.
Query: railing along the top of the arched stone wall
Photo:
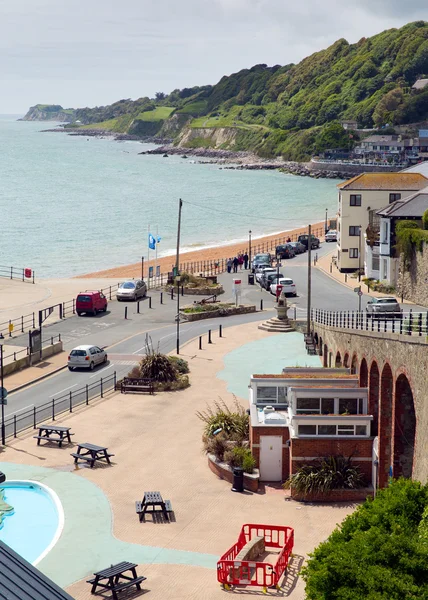
[[[374,331],[378,333],[398,333],[401,335],[428,336],[428,311],[383,312],[329,311],[312,309],[312,321],[320,325]]]

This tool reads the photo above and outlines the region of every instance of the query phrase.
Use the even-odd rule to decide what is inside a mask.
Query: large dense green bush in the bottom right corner
[[[310,555],[307,600],[428,599],[428,485],[399,479]]]

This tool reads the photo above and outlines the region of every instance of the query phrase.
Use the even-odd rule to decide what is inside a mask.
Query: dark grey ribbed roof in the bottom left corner
[[[53,581],[0,541],[0,598],[73,600]]]

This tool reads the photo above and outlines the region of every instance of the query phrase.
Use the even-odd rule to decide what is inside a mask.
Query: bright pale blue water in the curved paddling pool
[[[52,542],[59,522],[50,495],[37,485],[4,483],[4,500],[14,512],[3,519],[0,540],[33,563]]]

